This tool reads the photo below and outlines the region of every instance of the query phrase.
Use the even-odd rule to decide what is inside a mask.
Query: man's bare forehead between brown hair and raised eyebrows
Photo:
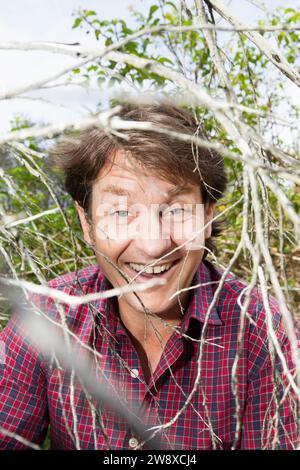
[[[94,193],[110,193],[116,196],[154,192],[162,197],[169,197],[189,192],[197,194],[199,191],[199,187],[195,185],[176,185],[167,181],[160,175],[159,169],[149,170],[142,167],[125,152],[117,152],[115,157],[105,164],[93,187]]]

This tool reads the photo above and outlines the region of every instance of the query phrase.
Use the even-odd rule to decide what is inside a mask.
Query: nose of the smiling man
[[[139,230],[134,241],[137,250],[148,259],[157,259],[172,248],[170,227],[161,220],[159,210],[147,211],[139,217]]]

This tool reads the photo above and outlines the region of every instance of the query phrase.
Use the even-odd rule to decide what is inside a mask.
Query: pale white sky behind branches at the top
[[[174,0],[176,3],[176,0]],[[235,15],[249,25],[255,25],[264,13],[254,6],[261,0],[223,0]],[[178,2],[178,0],[177,0]],[[300,7],[300,0],[265,0],[271,11],[277,6]],[[72,12],[79,7],[95,10],[101,19],[123,18],[130,21],[128,7],[135,5],[148,11],[151,0],[0,0],[0,42],[5,41],[58,41],[97,44],[92,35],[80,29],[72,30]],[[191,4],[191,0],[188,0]],[[49,74],[72,65],[75,59],[46,52],[4,51],[0,49],[0,92],[9,91],[47,77]],[[285,79],[283,79],[285,80]],[[299,99],[298,90],[287,81],[286,92]],[[37,100],[13,99],[0,103],[0,134],[10,128],[10,119],[16,115],[28,117],[35,122],[66,121],[79,117],[87,110],[94,110],[99,100],[99,90],[85,90],[68,86],[43,92],[31,93],[30,97],[51,100],[53,104]],[[297,98],[298,96],[298,98]],[[63,106],[61,106],[63,104]],[[58,106],[60,105],[60,106]]]

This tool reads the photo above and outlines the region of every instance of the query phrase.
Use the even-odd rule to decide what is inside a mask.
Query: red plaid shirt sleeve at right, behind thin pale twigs
[[[296,331],[299,342],[299,332]],[[281,336],[281,351],[295,377],[290,341]],[[275,362],[274,362],[275,361]],[[299,446],[299,397],[289,384],[282,361],[275,354],[248,382],[242,418],[241,449],[293,450]]]

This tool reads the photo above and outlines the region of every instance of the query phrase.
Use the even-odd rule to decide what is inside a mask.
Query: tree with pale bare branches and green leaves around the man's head
[[[140,94],[149,99],[168,96],[204,123],[211,145],[224,155],[229,175],[229,190],[217,213],[227,220],[217,262],[226,273],[234,270],[250,282],[242,315],[251,290],[261,287],[266,308],[268,293],[277,298],[290,341],[295,342],[289,312],[296,314],[300,306],[299,110],[286,99],[284,87],[300,85],[300,13],[280,8],[268,15],[267,23],[253,28],[241,24],[221,0],[190,3],[156,0],[146,15],[133,9],[134,28],[123,19],[100,19],[88,9],[75,12],[72,27],[93,34],[94,47],[0,43],[2,49],[77,58],[75,66],[4,92],[2,99],[42,89],[58,77],[83,86],[96,81],[101,90],[111,90],[109,112],[99,103],[98,114],[65,125],[17,120],[0,138],[2,281],[21,285],[21,279],[27,279],[45,285],[49,276],[93,260],[47,150],[63,132],[71,137],[95,125],[122,132],[124,123],[117,118],[122,92],[115,91],[121,85],[132,100]],[[7,306],[3,312],[0,320],[5,323]],[[296,352],[294,360],[299,386]]]

